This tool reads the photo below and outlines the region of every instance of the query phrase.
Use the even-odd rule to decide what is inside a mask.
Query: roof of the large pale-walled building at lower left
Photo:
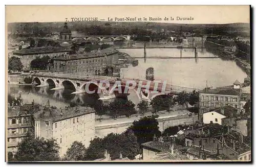
[[[65,109],[51,109],[51,110],[40,110],[34,114],[37,119],[53,116],[53,122],[58,122],[61,120],[67,120],[68,118],[89,114],[95,112],[90,107],[67,107]]]

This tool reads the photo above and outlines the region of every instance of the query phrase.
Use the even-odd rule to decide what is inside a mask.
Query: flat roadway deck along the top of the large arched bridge
[[[32,74],[34,77],[45,77],[45,78],[58,78],[58,79],[67,79],[67,80],[75,80],[75,81],[97,81],[100,82],[102,80],[109,81],[110,84],[115,84],[116,81],[118,81],[119,78],[117,77],[107,77],[107,76],[94,76],[94,75],[84,75],[84,74],[67,74],[67,73],[36,73]],[[166,83],[165,92],[162,92],[163,82],[162,81],[148,81],[145,79],[131,79],[131,78],[123,78],[120,79],[121,85],[126,85],[127,81],[135,81],[137,83],[136,88],[139,85],[139,82],[141,82],[142,85],[147,85],[147,82],[150,82],[149,89],[150,90],[156,90],[161,93],[173,93],[178,94],[181,91],[187,91],[191,92],[193,90],[199,90],[193,87],[188,86],[180,86],[175,84],[169,84]],[[155,88],[155,85],[158,84],[157,89]],[[132,86],[132,84],[129,84],[129,86]]]

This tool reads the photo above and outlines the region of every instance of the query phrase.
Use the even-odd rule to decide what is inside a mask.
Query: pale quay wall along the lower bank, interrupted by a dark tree
[[[198,116],[188,116],[188,115],[179,115],[179,116],[173,116],[173,117],[160,117],[157,118],[159,123],[159,130],[161,132],[164,131],[164,129],[172,126],[178,126],[178,125],[192,125],[196,121],[198,121]],[[124,132],[129,126],[131,126],[133,121],[126,122],[126,123],[117,123],[113,125],[97,125],[97,122],[95,123],[95,135],[98,137],[105,137],[109,133],[122,133]]]

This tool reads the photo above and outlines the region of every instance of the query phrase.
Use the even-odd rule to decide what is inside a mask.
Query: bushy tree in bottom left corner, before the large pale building
[[[18,144],[17,161],[57,161],[59,146],[55,139],[26,137]]]

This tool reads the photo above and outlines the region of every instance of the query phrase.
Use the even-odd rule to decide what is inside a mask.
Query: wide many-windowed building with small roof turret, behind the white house
[[[203,122],[203,113],[225,105],[237,108],[240,112],[243,109],[240,104],[241,93],[241,83],[238,80],[232,86],[199,91],[199,121]]]

